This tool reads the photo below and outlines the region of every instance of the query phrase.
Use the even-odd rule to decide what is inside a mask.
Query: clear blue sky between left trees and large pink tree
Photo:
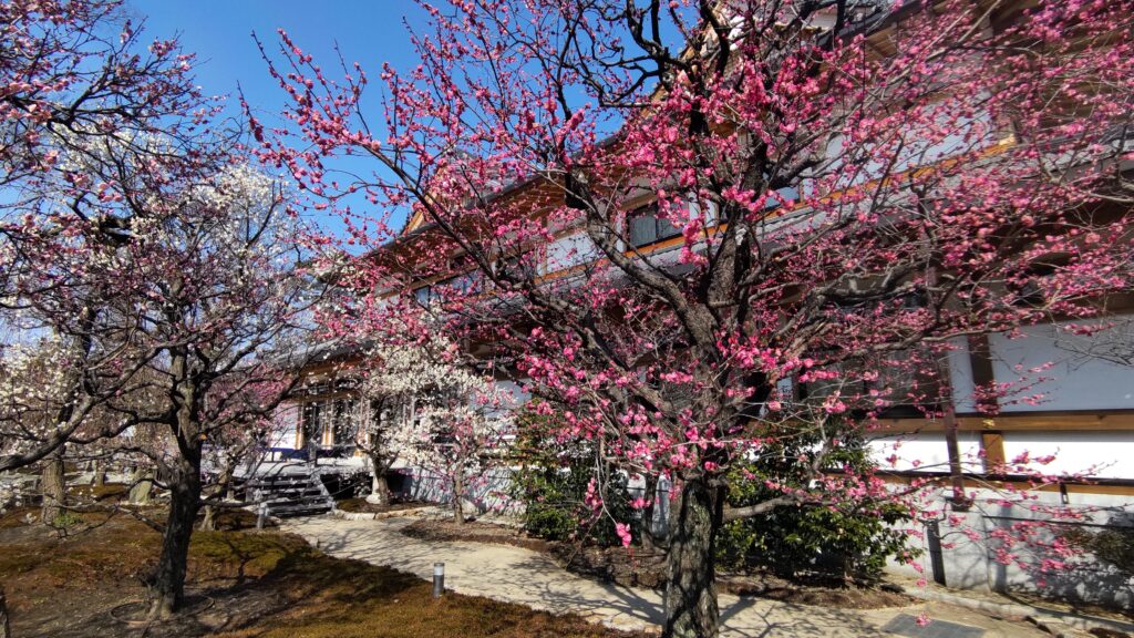
[[[197,54],[197,83],[206,93],[229,95],[235,115],[239,85],[269,125],[281,121],[286,95],[268,75],[253,32],[274,53],[276,30],[284,28],[328,69],[337,64],[337,43],[348,64],[361,62],[376,78],[382,62],[416,65],[404,19],[421,28],[425,17],[412,0],[127,0],[126,9],[135,22],[145,19],[147,39],[178,35],[185,51]],[[376,102],[378,89],[371,83],[369,103]],[[356,170],[371,166],[350,163]],[[318,220],[332,232],[340,227],[335,216]]]

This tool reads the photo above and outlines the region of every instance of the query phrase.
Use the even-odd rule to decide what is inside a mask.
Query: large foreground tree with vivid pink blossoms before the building
[[[561,436],[674,481],[666,636],[717,635],[726,521],[921,511],[925,481],[827,459],[892,406],[950,414],[958,339],[1129,288],[1129,2],[423,5],[376,114],[359,65],[281,33],[290,124],[251,118],[259,152],[375,251],[330,327],[416,295],[564,406]],[[730,468],[799,433],[813,488],[727,509]]]

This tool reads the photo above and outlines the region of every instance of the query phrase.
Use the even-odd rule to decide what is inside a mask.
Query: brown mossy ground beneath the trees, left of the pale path
[[[434,599],[429,582],[330,557],[297,536],[244,529],[253,521],[243,514],[194,534],[188,611],[147,626],[141,612],[156,531],[122,514],[86,513],[61,537],[27,523],[29,513],[0,518],[0,585],[19,638],[643,638],[485,598]]]

